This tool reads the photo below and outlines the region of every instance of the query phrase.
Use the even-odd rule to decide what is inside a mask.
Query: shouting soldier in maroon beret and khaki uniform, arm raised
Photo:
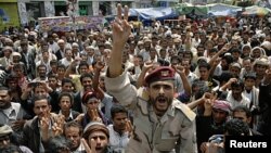
[[[130,84],[128,74],[122,71],[121,56],[131,27],[128,8],[121,18],[118,5],[118,18],[113,23],[113,50],[105,78],[106,89],[122,105],[133,111],[133,136],[126,153],[194,153],[195,114],[173,98],[175,69],[162,66],[147,75],[146,92],[149,99],[138,94]]]

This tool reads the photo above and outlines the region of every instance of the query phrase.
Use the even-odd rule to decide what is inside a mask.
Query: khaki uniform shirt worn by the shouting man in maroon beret
[[[157,118],[145,98],[139,95],[127,73],[105,78],[108,93],[133,111],[134,131],[126,153],[195,153],[195,114],[173,100],[165,115]]]

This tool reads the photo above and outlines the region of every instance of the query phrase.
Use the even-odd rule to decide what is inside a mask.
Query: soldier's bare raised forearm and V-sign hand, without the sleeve
[[[124,20],[121,18],[121,4],[117,5],[117,18],[113,22],[113,49],[108,64],[108,77],[117,77],[122,73],[122,53],[125,43],[131,34],[128,23],[128,7],[125,7]]]

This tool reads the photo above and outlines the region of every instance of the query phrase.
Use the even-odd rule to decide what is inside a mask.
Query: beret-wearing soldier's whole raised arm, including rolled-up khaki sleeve
[[[128,8],[125,8],[125,16],[121,20],[121,5],[118,4],[118,17],[114,21],[113,49],[108,62],[108,68],[104,79],[106,92],[112,94],[125,106],[133,109],[137,103],[137,89],[130,84],[127,72],[122,72],[124,47],[130,35],[131,27],[128,24]],[[133,105],[132,105],[133,104]]]

